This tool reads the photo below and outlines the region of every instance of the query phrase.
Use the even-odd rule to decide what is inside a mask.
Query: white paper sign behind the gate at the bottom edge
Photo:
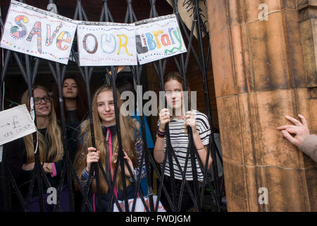
[[[156,206],[156,200],[157,200],[157,196],[153,196],[154,208]],[[144,198],[144,202],[147,204],[147,208],[149,208],[149,210],[150,210],[149,197]],[[120,205],[120,209],[123,212],[125,212],[125,201],[118,201],[118,203]],[[129,206],[129,211],[131,212],[132,206],[133,206],[133,198],[128,199],[128,206]],[[119,209],[118,209],[118,206],[116,203],[113,204],[113,212],[119,212]],[[136,199],[135,212],[147,212],[147,209],[144,207],[144,204],[143,204],[141,198]],[[159,208],[158,208],[157,212],[166,212],[161,201],[159,202]]]

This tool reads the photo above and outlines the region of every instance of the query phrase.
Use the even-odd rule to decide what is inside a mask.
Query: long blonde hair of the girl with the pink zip
[[[92,98],[92,121],[93,121],[93,126],[94,126],[94,136],[96,139],[96,150],[100,151],[99,155],[99,161],[101,162],[101,165],[104,167],[104,170],[106,171],[106,154],[108,153],[108,148],[105,148],[105,138],[104,134],[102,133],[101,129],[101,119],[98,114],[98,106],[97,106],[97,97],[100,93],[103,93],[105,91],[111,91],[112,87],[110,85],[105,85],[101,86],[95,93],[94,97]],[[120,100],[120,95],[117,93],[117,102],[118,102],[118,109],[120,112],[120,106],[122,105],[122,102]],[[117,117],[117,116],[116,116]],[[132,160],[133,167],[137,166],[137,156],[135,152],[135,138],[133,137],[134,129],[138,130],[139,129],[139,124],[136,119],[131,119],[129,116],[124,117],[123,114],[119,114],[119,120],[120,120],[120,134],[122,139],[122,145],[123,145],[123,150],[128,154],[130,159]],[[92,138],[90,136],[90,124],[89,124],[89,119],[86,119],[81,126],[81,132],[83,138],[83,143],[80,146],[80,151],[77,152],[76,157],[75,157],[75,170],[77,172],[77,175],[79,178],[82,177],[82,172],[84,171],[86,165],[87,165],[87,147],[92,147]],[[108,145],[108,143],[106,143]],[[113,153],[118,153],[118,136],[115,137],[114,142],[112,144],[113,146]],[[107,153],[106,153],[107,152]],[[109,155],[108,155],[109,156]],[[112,160],[111,160],[111,166],[113,169],[115,169],[116,164],[113,163],[116,160],[116,156],[113,155]],[[133,169],[132,169],[133,172]],[[103,174],[101,174],[101,170],[98,168],[98,173],[101,175],[99,177],[99,185],[100,185],[100,191],[102,194],[106,194],[108,192],[108,184],[106,183],[106,179],[104,179]],[[130,184],[130,181],[128,179],[125,179],[125,182],[127,185]],[[78,189],[77,183],[75,184],[76,188]],[[116,177],[116,187],[123,189],[123,179],[120,173],[117,174]],[[96,179],[93,179],[92,181],[92,191],[97,192],[97,184],[96,184]]]

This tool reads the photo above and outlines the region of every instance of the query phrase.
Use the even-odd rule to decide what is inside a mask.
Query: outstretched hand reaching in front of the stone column
[[[303,143],[305,138],[310,135],[305,117],[302,116],[302,114],[299,114],[298,116],[300,119],[302,119],[302,122],[287,115],[285,118],[289,121],[292,121],[294,125],[278,127],[278,130],[282,131],[283,136],[287,138],[290,143],[297,146],[297,148]],[[291,134],[295,134],[295,136],[293,137]]]

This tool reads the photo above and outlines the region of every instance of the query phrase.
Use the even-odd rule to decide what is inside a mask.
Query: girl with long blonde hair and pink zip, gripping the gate
[[[117,92],[117,102],[120,112],[120,106],[122,102]],[[114,171],[116,169],[117,157],[118,157],[118,136],[116,117],[120,120],[120,135],[122,138],[123,152],[125,160],[128,161],[128,165],[125,165],[124,173],[125,178],[122,178],[119,171],[114,178]],[[75,157],[75,169],[78,176],[81,179],[81,185],[86,186],[88,183],[89,171],[92,169],[93,162],[101,162],[108,181],[114,181],[114,194],[118,200],[124,200],[123,196],[123,179],[127,185],[128,197],[133,198],[135,195],[135,184],[132,184],[137,180],[139,174],[141,179],[146,175],[144,162],[141,161],[142,155],[142,140],[139,133],[139,124],[136,119],[131,119],[129,116],[124,117],[122,114],[116,116],[115,107],[113,101],[113,89],[111,86],[106,85],[99,88],[92,99],[92,121],[94,126],[94,138],[96,148],[92,147],[92,138],[90,136],[89,119],[84,121],[81,126],[81,134],[79,137],[80,151]],[[139,172],[139,166],[142,165],[142,171]],[[128,167],[132,171],[130,174]],[[110,202],[109,184],[106,183],[104,175],[101,173],[99,167],[96,167],[99,173],[99,187],[101,191],[101,211],[107,211],[108,204]],[[134,179],[132,178],[134,177]],[[78,185],[77,185],[78,186]],[[96,179],[92,179],[92,184],[89,185],[89,200],[92,201],[94,210],[98,209],[97,198],[95,193],[97,192]],[[112,209],[112,207],[111,207]],[[100,210],[99,210],[100,211]]]

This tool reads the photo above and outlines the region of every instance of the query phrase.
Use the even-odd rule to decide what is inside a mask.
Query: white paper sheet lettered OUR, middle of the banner
[[[137,65],[134,23],[82,22],[77,44],[80,66]]]

